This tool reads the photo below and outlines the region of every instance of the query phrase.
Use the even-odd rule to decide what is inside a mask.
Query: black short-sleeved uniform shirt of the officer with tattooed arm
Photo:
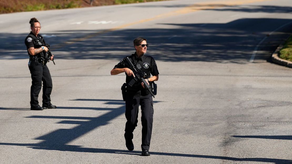
[[[33,36],[30,36],[33,35]],[[42,44],[46,44],[45,39],[43,38],[43,36],[41,36],[41,34],[38,34],[37,36],[35,36],[32,32],[29,33],[29,35],[25,38],[25,46],[27,49],[27,53],[28,55],[30,55],[30,53],[28,52],[28,49],[31,47],[34,48],[40,48],[42,46]]]

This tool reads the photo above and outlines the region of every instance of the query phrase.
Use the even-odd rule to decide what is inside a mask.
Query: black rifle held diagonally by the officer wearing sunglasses
[[[126,57],[126,64],[131,67],[130,69],[135,75],[135,77],[128,83],[128,85],[133,86],[136,81],[143,82],[145,90],[148,91],[153,96],[153,98],[155,98],[154,94],[151,91],[150,85],[145,80],[147,74],[145,74],[145,72],[141,70],[140,64],[137,64],[137,67],[135,67],[128,57]]]

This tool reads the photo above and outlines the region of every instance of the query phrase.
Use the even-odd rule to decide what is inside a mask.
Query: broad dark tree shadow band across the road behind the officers
[[[266,22],[271,25],[263,28]],[[166,62],[204,61],[247,64],[258,43],[290,19],[246,18],[224,24],[160,24],[165,29],[123,29],[100,34],[100,30],[73,30],[52,33],[55,59],[121,60],[134,52],[133,38],[145,36],[147,54]],[[279,29],[258,49],[254,62],[266,62],[270,54],[290,34],[292,24]],[[85,34],[86,33],[86,34]],[[76,35],[78,37],[76,38]],[[27,34],[0,34],[0,59],[28,58],[24,38]],[[275,39],[278,38],[278,39]],[[280,39],[280,40],[279,40]],[[55,48],[54,48],[55,47]],[[268,55],[267,55],[268,54]]]

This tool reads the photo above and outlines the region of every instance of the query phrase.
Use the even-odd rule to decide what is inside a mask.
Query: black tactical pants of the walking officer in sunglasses
[[[126,96],[126,128],[125,138],[133,139],[133,131],[138,123],[138,108],[141,105],[142,144],[141,148],[149,150],[153,123],[153,99],[150,94],[142,91],[127,91]]]

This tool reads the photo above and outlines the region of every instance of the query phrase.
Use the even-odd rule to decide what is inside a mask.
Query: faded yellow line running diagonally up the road
[[[177,15],[182,15],[182,14],[187,14],[187,13],[192,13],[192,12],[196,12],[196,11],[200,11],[200,10],[207,10],[207,9],[214,9],[214,8],[220,8],[220,7],[226,7],[226,6],[237,6],[237,5],[243,5],[243,4],[249,4],[249,3],[255,3],[255,2],[262,2],[262,1],[273,1],[273,0],[226,0],[226,1],[212,1],[212,2],[204,2],[204,3],[196,3],[190,6],[187,6],[185,8],[182,8],[180,10],[177,11],[172,11],[169,13],[164,13],[164,14],[160,14],[157,15],[153,18],[149,18],[149,19],[143,19],[137,22],[133,22],[133,23],[128,23],[125,25],[121,25],[121,26],[117,26],[114,27],[112,29],[107,29],[107,30],[102,30],[99,32],[96,32],[94,34],[88,34],[84,37],[81,38],[77,38],[77,39],[71,39],[69,41],[66,41],[63,44],[60,44],[60,46],[55,46],[54,49],[58,49],[58,48],[62,48],[64,46],[70,45],[70,44],[74,44],[76,42],[79,41],[85,41],[86,39],[90,39],[93,38],[95,36],[98,36],[100,34],[105,34],[107,32],[111,32],[111,31],[115,31],[115,30],[119,30],[119,29],[123,29],[125,27],[131,26],[131,25],[137,25],[140,23],[144,23],[144,22],[149,22],[152,20],[157,20],[157,19],[161,19],[161,18],[167,18],[167,17],[171,17],[171,16],[177,16]]]

